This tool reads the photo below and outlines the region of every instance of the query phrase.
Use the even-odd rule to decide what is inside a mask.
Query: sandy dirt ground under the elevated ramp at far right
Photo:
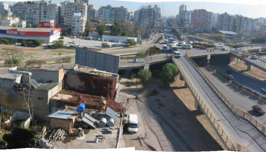
[[[248,75],[251,75],[261,81],[266,80],[266,72],[261,71],[257,67],[252,66],[251,71],[247,71],[247,65],[244,64],[244,61],[240,60],[240,62],[235,64],[229,64],[229,66],[237,69],[238,71],[242,71]]]

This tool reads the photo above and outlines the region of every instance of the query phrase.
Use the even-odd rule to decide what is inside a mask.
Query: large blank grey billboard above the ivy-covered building
[[[118,73],[119,58],[119,56],[111,54],[77,48],[75,63],[103,71]]]

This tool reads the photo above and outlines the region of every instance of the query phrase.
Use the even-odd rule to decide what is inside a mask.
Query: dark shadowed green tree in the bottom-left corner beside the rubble
[[[9,134],[3,135],[7,149],[32,148],[35,146],[35,132],[15,127]]]

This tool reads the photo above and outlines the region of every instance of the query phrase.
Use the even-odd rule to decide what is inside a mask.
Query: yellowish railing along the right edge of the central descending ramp
[[[251,116],[248,112],[238,108],[235,104],[233,104],[217,87],[212,83],[212,81],[206,76],[206,74],[198,67],[198,65],[186,55],[188,60],[194,65],[194,67],[198,70],[198,72],[202,75],[202,77],[209,83],[209,85],[213,88],[213,90],[220,96],[220,98],[227,104],[227,106],[235,112],[240,117],[244,117],[253,123],[258,129],[260,129],[263,133],[265,133],[266,126],[264,126],[260,121]]]

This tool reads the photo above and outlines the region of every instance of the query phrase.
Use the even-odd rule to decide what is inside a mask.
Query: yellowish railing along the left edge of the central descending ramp
[[[190,80],[187,78],[187,75],[181,68],[181,66],[178,64],[177,60],[172,57],[172,60],[174,61],[175,65],[178,67],[179,72],[183,75],[183,78],[185,81],[187,81],[187,85],[189,85],[191,91],[194,94],[194,97],[198,100],[199,104],[203,108],[205,114],[209,117],[209,119],[212,121],[213,125],[216,127],[216,130],[220,133],[221,137],[224,139],[224,141],[227,143],[228,147],[231,150],[237,150],[237,151],[245,151],[245,152],[251,152],[248,147],[245,147],[239,143],[237,143],[235,140],[231,139],[230,136],[227,135],[223,127],[220,125],[218,120],[215,118],[215,116],[212,114],[209,107],[205,104],[203,99],[201,98],[200,94],[196,91],[194,86],[191,84]]]

